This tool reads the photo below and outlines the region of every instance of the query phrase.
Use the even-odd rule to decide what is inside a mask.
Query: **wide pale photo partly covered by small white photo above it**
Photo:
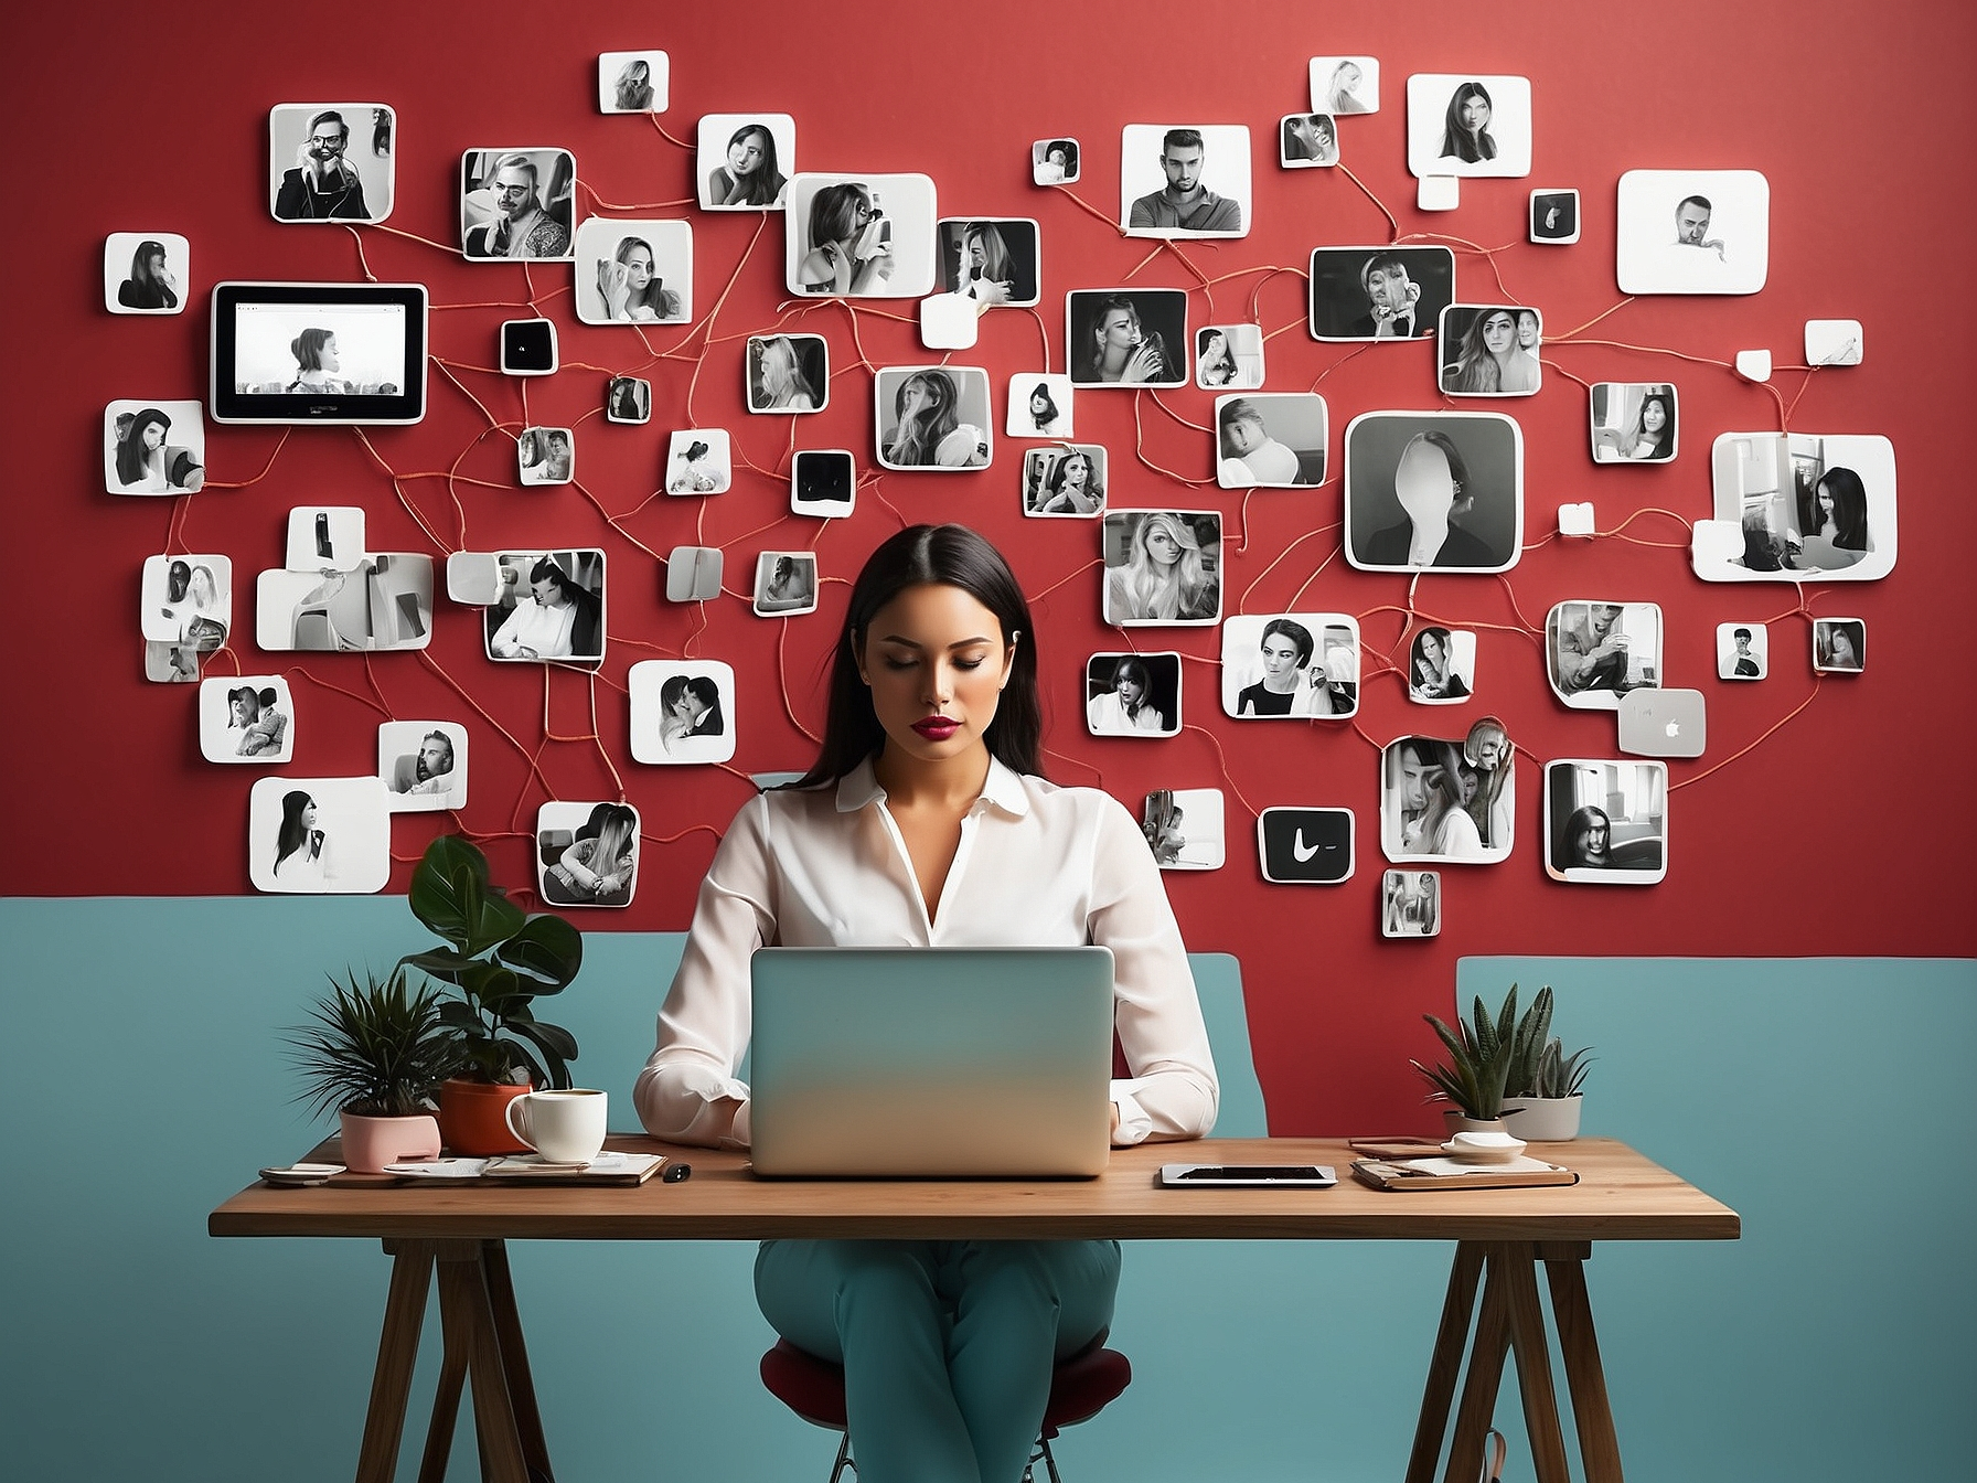
[[[378,552],[348,571],[261,571],[255,643],[269,651],[380,653],[433,641],[433,558]]]

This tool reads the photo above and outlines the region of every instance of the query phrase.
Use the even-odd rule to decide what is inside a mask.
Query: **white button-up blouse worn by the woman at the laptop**
[[[872,763],[834,789],[761,793],[708,866],[658,1050],[633,1101],[654,1137],[747,1145],[749,955],[757,947],[1079,947],[1113,951],[1125,1080],[1115,1143],[1186,1139],[1216,1121],[1216,1070],[1160,870],[1107,793],[990,761],[929,919]]]

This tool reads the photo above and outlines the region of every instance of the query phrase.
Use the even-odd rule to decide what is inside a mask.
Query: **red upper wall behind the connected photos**
[[[1000,4],[868,8],[818,24],[811,8],[654,10],[645,24],[575,24],[542,6],[484,0],[473,22],[453,8],[386,12],[283,6],[204,6],[160,16],[127,6],[43,8],[8,22],[16,59],[12,188],[6,229],[14,301],[4,376],[16,625],[14,724],[6,777],[12,848],[0,892],[38,896],[247,892],[247,789],[259,769],[200,759],[192,686],[142,680],[136,581],[150,554],[225,552],[237,593],[279,566],[291,504],[356,502],[372,550],[435,550],[401,504],[409,500],[447,548],[601,546],[611,562],[611,649],[595,682],[482,658],[478,613],[439,601],[429,651],[478,710],[528,751],[558,799],[617,797],[605,751],[645,817],[637,904],[583,914],[585,929],[678,929],[714,846],[714,830],[747,795],[720,769],[641,767],[629,759],[625,672],[639,658],[730,660],[741,676],[737,767],[809,761],[820,722],[818,672],[836,635],[844,587],[826,585],[822,611],[785,623],[755,619],[728,597],[704,615],[660,601],[662,569],[648,548],[696,540],[728,550],[730,585],[763,548],[815,542],[826,577],[850,577],[862,556],[903,520],[965,520],[1014,560],[1038,603],[1046,694],[1054,708],[1052,771],[1101,783],[1137,807],[1153,787],[1224,787],[1230,862],[1212,874],[1168,874],[1196,949],[1244,961],[1257,1062],[1279,1131],[1398,1127],[1419,1121],[1406,1056],[1425,1054],[1423,1008],[1447,1010],[1461,953],[1653,955],[1967,955],[1977,807],[1963,765],[1973,718],[1965,676],[1971,514],[1963,417],[1971,405],[1965,281],[1973,231],[1971,176],[1977,20],[1969,12],[1847,0],[1722,6],[1669,0],[1615,12],[1611,30],[1582,4],[1437,8],[1433,26],[1402,24],[1392,6],[1062,6]],[[231,14],[229,14],[231,12]],[[589,12],[599,14],[599,12]],[[1408,12],[1414,14],[1414,12]],[[1789,26],[1789,30],[1783,30]],[[1635,28],[1643,28],[1637,32]],[[577,34],[589,32],[583,40]],[[1269,390],[1317,386],[1331,401],[1332,469],[1338,431],[1358,411],[1445,405],[1425,346],[1315,344],[1305,328],[1301,269],[1315,245],[1390,235],[1378,196],[1402,233],[1437,231],[1497,253],[1506,293],[1538,305],[1558,336],[1621,303],[1613,281],[1613,190],[1627,168],[1756,168],[1771,182],[1769,283],[1752,299],[1641,299],[1619,306],[1580,344],[1546,348],[1540,395],[1495,403],[1526,439],[1526,542],[1552,530],[1556,504],[1593,500],[1601,530],[1625,536],[1540,544],[1504,581],[1493,577],[1368,575],[1338,546],[1338,484],[1265,490],[1244,500],[1212,482],[1206,425],[1212,393],[1135,397],[1085,393],[1079,441],[1109,445],[1115,506],[1200,506],[1226,514],[1228,611],[1299,607],[1356,613],[1368,647],[1356,724],[1236,726],[1214,702],[1218,635],[1149,629],[1143,649],[1180,649],[1190,728],[1172,742],[1095,742],[1079,718],[1087,654],[1115,649],[1099,623],[1095,526],[1020,516],[1020,447],[1000,439],[994,467],[971,475],[884,475],[860,492],[858,516],[818,530],[787,514],[791,437],[850,447],[872,465],[872,364],[931,360],[917,346],[911,305],[880,303],[856,316],[813,305],[785,316],[783,221],[710,216],[692,196],[692,154],[639,117],[595,111],[601,49],[662,45],[672,55],[666,134],[692,142],[702,113],[789,111],[799,164],[830,170],[921,170],[943,216],[1034,216],[1042,221],[1044,303],[1032,316],[998,310],[959,364],[990,368],[1000,393],[1036,370],[1048,342],[1064,368],[1062,295],[1117,285],[1149,257],[1109,225],[1119,208],[1123,123],[1246,123],[1257,156],[1255,227],[1242,241],[1157,253],[1135,285],[1194,289],[1190,322],[1255,316],[1269,340]],[[1307,107],[1305,59],[1376,53],[1382,113],[1342,129],[1342,170],[1285,172],[1273,164],[1279,115]],[[1404,79],[1414,71],[1524,73],[1534,87],[1536,148],[1528,180],[1465,182],[1461,210],[1414,212],[1404,168]],[[605,368],[631,370],[646,352],[623,328],[589,328],[569,306],[571,269],[532,273],[465,265],[443,249],[364,229],[277,225],[267,218],[267,109],[285,101],[380,99],[397,107],[397,208],[387,225],[439,243],[457,239],[453,178],[459,152],[490,144],[561,144],[581,180],[607,202],[668,204],[692,219],[692,330],[648,332],[658,352],[648,427],[607,427],[597,409]],[[1083,140],[1074,194],[1028,184],[1038,136]],[[36,146],[26,144],[28,138]],[[1578,186],[1584,239],[1524,243],[1524,198],[1536,186]],[[623,212],[617,212],[623,214]],[[761,235],[757,237],[757,227]],[[172,318],[111,316],[101,308],[109,231],[192,237],[192,310]],[[362,255],[360,255],[362,247]],[[484,435],[480,411],[445,378],[431,386],[419,427],[372,433],[403,477],[399,490],[352,433],[210,427],[215,484],[188,500],[121,498],[101,488],[99,435],[113,397],[206,395],[206,295],[217,279],[423,281],[433,291],[433,348],[486,368],[494,326],[534,303],[561,326],[569,368],[528,392],[532,421],[579,427],[583,490],[514,486],[512,443]],[[1269,275],[1265,267],[1279,267]],[[731,291],[706,320],[724,285]],[[1457,257],[1463,299],[1491,283],[1475,253]],[[1866,364],[1773,382],[1789,425],[1809,433],[1884,433],[1900,471],[1900,562],[1886,581],[1809,583],[1811,613],[1862,615],[1870,668],[1815,684],[1797,593],[1771,585],[1708,585],[1688,569],[1682,520],[1710,514],[1708,445],[1720,431],[1779,427],[1771,392],[1726,366],[1767,346],[1781,366],[1803,358],[1809,316],[1856,316]],[[856,322],[854,322],[856,320]],[[741,340],[787,322],[822,332],[836,378],[828,411],[795,419],[741,411]],[[854,340],[854,334],[858,336]],[[1625,346],[1590,344],[1613,340]],[[1631,346],[1631,348],[1629,348]],[[1657,354],[1676,350],[1688,360]],[[700,374],[696,380],[696,360]],[[1682,445],[1673,467],[1595,469],[1588,457],[1586,392],[1574,378],[1673,380]],[[522,419],[522,386],[463,372],[504,423]],[[1475,403],[1469,403],[1475,405]],[[658,482],[668,427],[728,427],[763,473],[741,473],[730,494],[643,506]],[[581,421],[579,421],[581,419]],[[1135,443],[1143,463],[1135,463]],[[277,445],[279,451],[277,451]],[[431,477],[457,467],[449,496]],[[1180,488],[1160,471],[1192,486]],[[1208,480],[1206,486],[1200,480]],[[471,480],[490,480],[494,488]],[[643,508],[641,508],[643,506]],[[603,512],[619,516],[607,522]],[[1317,536],[1263,569],[1305,532]],[[1321,569],[1323,567],[1323,569]],[[1317,573],[1317,575],[1315,575]],[[1249,585],[1255,583],[1253,589]],[[53,593],[28,603],[26,591]],[[1246,589],[1249,589],[1246,593]],[[1546,880],[1538,850],[1540,767],[1548,757],[1613,751],[1611,716],[1568,712],[1544,682],[1532,625],[1566,597],[1657,601],[1667,617],[1667,680],[1710,704],[1710,753],[1671,763],[1669,876],[1657,888],[1582,888]],[[1481,629],[1479,700],[1429,710],[1408,704],[1380,672],[1408,615]],[[1771,621],[1771,678],[1714,678],[1720,621]],[[459,825],[492,834],[500,876],[520,880],[516,830],[534,819],[544,783],[490,720],[413,654],[261,654],[247,599],[237,597],[235,649],[245,672],[289,674],[301,714],[293,775],[370,771],[376,724],[459,718],[473,730],[473,797]],[[297,662],[301,660],[301,662]],[[231,672],[219,656],[210,674]],[[781,692],[787,690],[789,712]],[[548,702],[546,702],[548,692]],[[591,730],[601,743],[552,740]],[[1382,941],[1378,931],[1378,743],[1406,732],[1459,736],[1483,712],[1508,722],[1518,743],[1518,844],[1485,868],[1443,872],[1447,925],[1433,941]],[[1789,720],[1787,720],[1789,718]],[[1443,728],[1447,722],[1447,728]],[[1783,724],[1781,724],[1783,722]],[[1765,736],[1777,728],[1775,734]],[[1748,751],[1744,751],[1750,747]],[[1740,753],[1742,755],[1734,755]],[[1734,759],[1732,759],[1734,757]],[[1238,797],[1240,795],[1240,797]],[[1242,801],[1350,807],[1358,815],[1356,876],[1336,888],[1261,882],[1253,825]],[[441,827],[393,823],[393,890]],[[306,973],[314,965],[301,965]],[[1675,969],[1671,969],[1675,971]],[[1570,1026],[1564,1026],[1570,1034]]]

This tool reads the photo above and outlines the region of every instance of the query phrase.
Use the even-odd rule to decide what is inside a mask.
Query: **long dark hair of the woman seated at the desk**
[[[961,587],[1002,625],[1002,641],[1014,635],[1008,684],[983,740],[988,755],[1016,773],[1042,777],[1044,704],[1036,692],[1036,627],[1030,603],[1002,552],[967,526],[907,526],[866,558],[844,609],[844,631],[830,660],[830,706],[824,714],[824,742],[811,771],[789,787],[822,787],[856,771],[886,745],[886,730],[872,710],[872,692],[858,674],[858,651],[872,619],[907,587],[937,583]]]

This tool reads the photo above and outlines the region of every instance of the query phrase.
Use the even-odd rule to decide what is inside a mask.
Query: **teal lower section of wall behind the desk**
[[[322,969],[386,967],[421,945],[403,902],[4,900],[0,941],[8,1473],[350,1477],[386,1258],[374,1242],[210,1240],[206,1214],[324,1131],[289,1101],[281,1030]],[[678,937],[597,933],[587,951],[558,1010],[583,1044],[581,1078],[623,1093]],[[1560,1030],[1597,1048],[1588,1131],[1744,1214],[1734,1244],[1593,1256],[1629,1473],[1963,1475],[1977,1196],[1957,1151],[1977,967],[1465,959],[1459,993],[1497,997],[1512,979],[1552,983]],[[1309,1066],[1329,1074],[1323,1046]],[[631,1123],[625,1099],[617,1123]],[[824,1475],[826,1438],[755,1380],[769,1331],[749,1256],[514,1248],[565,1483]],[[1129,1250],[1113,1333],[1137,1378],[1066,1434],[1066,1475],[1398,1477],[1445,1265],[1441,1246]],[[1512,1477],[1528,1477],[1528,1459]]]

